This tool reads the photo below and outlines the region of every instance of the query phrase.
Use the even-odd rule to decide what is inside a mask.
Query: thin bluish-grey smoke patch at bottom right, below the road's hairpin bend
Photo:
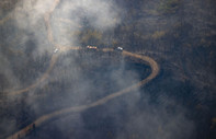
[[[170,107],[174,109],[170,109]],[[133,107],[134,112],[120,131],[117,139],[147,138],[147,139],[191,139],[194,138],[194,123],[185,117],[185,109],[175,102],[166,99],[158,105],[146,103],[140,109]]]

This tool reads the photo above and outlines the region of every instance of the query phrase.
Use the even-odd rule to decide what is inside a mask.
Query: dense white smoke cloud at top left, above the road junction
[[[71,36],[71,33],[82,30],[83,22],[87,21],[91,27],[104,31],[113,28],[121,22],[118,13],[117,5],[107,0],[23,0],[13,11],[18,28],[35,35],[38,54],[53,50],[47,44],[44,16],[50,15],[49,24],[54,42],[73,46],[79,44],[77,36]]]

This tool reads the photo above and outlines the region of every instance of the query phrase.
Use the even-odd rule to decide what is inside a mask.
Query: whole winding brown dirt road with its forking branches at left
[[[60,45],[58,45],[58,44],[56,44],[54,42],[52,26],[50,26],[50,14],[55,10],[55,8],[59,3],[59,1],[60,0],[55,0],[54,4],[50,8],[50,10],[48,10],[45,13],[45,15],[44,15],[45,25],[46,25],[46,28],[47,28],[47,39],[54,47],[58,48],[59,51],[53,54],[49,67],[47,68],[45,73],[35,83],[33,83],[32,85],[30,85],[30,86],[27,86],[25,89],[22,89],[22,90],[8,92],[9,95],[22,94],[24,92],[27,92],[27,91],[38,86],[39,83],[42,83],[43,81],[45,81],[48,78],[50,71],[53,70],[53,68],[54,68],[54,66],[56,63],[56,61],[58,60],[58,56],[60,54],[64,54],[64,51],[88,49],[88,48],[81,48],[81,47],[60,46]],[[10,18],[5,18],[2,21],[0,21],[0,25],[3,24],[8,19],[10,19]],[[103,48],[103,49],[98,49],[98,50],[101,50],[103,53],[115,51],[112,48]],[[157,74],[159,73],[159,66],[158,66],[158,63],[154,59],[151,59],[150,57],[133,54],[133,53],[129,53],[129,51],[126,51],[126,50],[123,50],[120,54],[122,54],[123,56],[126,56],[126,57],[137,58],[137,59],[140,59],[140,60],[145,61],[147,65],[150,66],[151,73],[146,79],[141,80],[140,82],[138,82],[136,84],[133,84],[133,85],[130,85],[130,86],[128,86],[126,89],[123,89],[121,91],[114,92],[114,93],[112,93],[112,94],[110,94],[110,95],[107,95],[107,96],[105,96],[103,99],[100,99],[100,100],[98,100],[95,102],[92,102],[90,104],[64,108],[64,109],[56,111],[54,113],[44,115],[42,117],[38,117],[35,121],[33,121],[32,124],[30,124],[25,128],[21,129],[20,131],[16,131],[15,134],[11,135],[7,139],[21,139],[21,138],[27,136],[35,128],[37,128],[39,126],[43,126],[44,124],[46,124],[46,123],[48,123],[48,121],[50,121],[50,120],[53,120],[55,118],[58,118],[58,117],[61,117],[64,115],[68,115],[68,114],[71,114],[71,113],[83,112],[83,111],[86,111],[88,108],[95,107],[95,106],[99,106],[99,105],[103,105],[103,104],[107,103],[109,101],[111,101],[111,100],[113,100],[115,97],[118,97],[118,96],[121,96],[123,94],[129,93],[129,92],[140,88],[141,85],[145,85],[146,83],[148,83],[149,81],[155,79],[157,77]]]

